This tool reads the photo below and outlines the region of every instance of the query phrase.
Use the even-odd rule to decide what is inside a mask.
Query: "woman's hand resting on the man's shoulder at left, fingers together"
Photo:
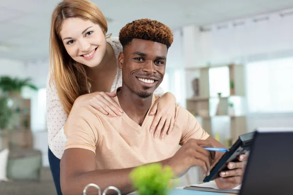
[[[113,97],[115,96],[115,93],[109,92],[94,92],[90,94],[84,94],[75,100],[74,105],[89,105],[102,112],[104,115],[117,117],[122,115],[123,110],[117,104],[117,102],[114,101]]]

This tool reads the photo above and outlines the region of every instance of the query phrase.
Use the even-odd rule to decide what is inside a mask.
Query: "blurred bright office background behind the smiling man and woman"
[[[13,181],[5,183],[10,194],[32,195],[44,189],[43,194],[54,194],[45,87],[50,17],[59,1],[0,3],[0,77],[30,78],[26,84],[38,88],[24,86],[21,94],[11,94],[8,104],[15,118],[9,128],[0,128],[0,158],[4,148],[10,150],[6,176]],[[159,20],[173,30],[161,86],[223,144],[229,146],[238,135],[257,127],[293,126],[292,0],[92,2],[107,18],[112,36],[141,18]],[[199,181],[194,169],[181,184]]]

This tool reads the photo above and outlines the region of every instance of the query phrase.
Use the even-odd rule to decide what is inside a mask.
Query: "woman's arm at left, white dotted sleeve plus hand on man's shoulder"
[[[54,79],[51,79],[49,71],[46,84],[46,101],[47,101],[47,129],[48,129],[48,144],[52,153],[59,159],[63,156],[67,137],[64,134],[63,126],[67,120],[67,114],[63,109],[63,105],[58,97],[57,89],[55,87]],[[111,98],[116,96],[113,93],[95,92],[85,94],[77,98],[74,104],[90,105],[99,110],[105,115],[112,115],[113,117],[121,116],[123,110]]]

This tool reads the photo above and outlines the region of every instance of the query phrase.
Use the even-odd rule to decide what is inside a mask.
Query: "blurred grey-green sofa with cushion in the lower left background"
[[[0,195],[56,195],[49,167],[42,167],[42,153],[33,149],[10,150],[8,181],[0,181]]]

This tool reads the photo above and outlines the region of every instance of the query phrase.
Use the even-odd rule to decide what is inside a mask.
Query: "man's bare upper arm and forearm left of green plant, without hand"
[[[60,181],[63,195],[80,195],[89,183],[95,183],[102,189],[115,186],[122,194],[133,190],[129,174],[133,168],[120,170],[96,170],[95,154],[80,148],[65,150],[60,163]],[[88,189],[87,194],[96,191]]]

